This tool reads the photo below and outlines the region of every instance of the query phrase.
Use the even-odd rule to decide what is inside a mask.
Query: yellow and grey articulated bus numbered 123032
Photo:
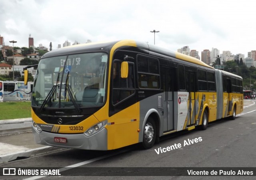
[[[38,144],[147,149],[166,134],[234,119],[243,110],[243,89],[240,76],[196,58],[120,40],[44,54],[31,101]]]

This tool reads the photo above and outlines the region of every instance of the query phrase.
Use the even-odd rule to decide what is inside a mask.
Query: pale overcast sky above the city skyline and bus
[[[5,45],[28,47],[28,37],[52,49],[80,43],[134,39],[201,56],[218,48],[232,54],[256,50],[255,0],[0,0]]]

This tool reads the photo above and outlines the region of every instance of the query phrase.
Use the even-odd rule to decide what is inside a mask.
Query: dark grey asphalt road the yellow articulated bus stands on
[[[45,177],[0,176],[0,179],[254,179],[255,139],[256,105],[244,109],[236,120],[224,119],[209,124],[207,130],[184,131],[165,136],[149,150],[140,150],[136,145],[107,152],[71,149],[0,164],[0,168],[52,167],[61,174]],[[163,150],[168,146],[173,149],[161,153],[160,148]],[[181,175],[186,172],[186,175],[187,170],[205,170],[209,173],[224,170],[224,173],[232,173],[225,167],[237,167],[233,169],[235,173],[248,170],[246,167],[254,167],[254,176],[170,176],[172,170],[176,175],[178,172]],[[69,176],[64,176],[67,174]],[[86,176],[79,176],[81,174]],[[87,176],[90,174],[98,176]],[[111,176],[113,174],[119,176]],[[162,176],[157,176],[159,174]]]

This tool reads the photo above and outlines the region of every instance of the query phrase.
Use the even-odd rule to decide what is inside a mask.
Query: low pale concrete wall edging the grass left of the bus
[[[0,135],[32,131],[32,118],[0,120]]]

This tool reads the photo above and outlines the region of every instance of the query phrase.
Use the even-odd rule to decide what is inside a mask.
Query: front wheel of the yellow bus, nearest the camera
[[[143,141],[141,142],[141,148],[150,149],[156,142],[156,123],[153,118],[149,117],[143,128]]]

